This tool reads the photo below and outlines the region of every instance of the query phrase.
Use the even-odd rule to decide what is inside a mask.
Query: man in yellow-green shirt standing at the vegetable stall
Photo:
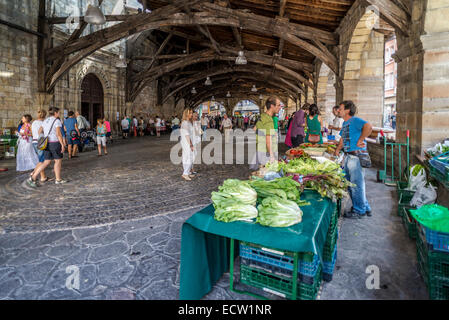
[[[273,116],[281,109],[281,101],[276,97],[269,97],[265,102],[267,111],[262,113],[256,123],[257,151],[250,169],[257,170],[259,165],[273,162],[277,156],[277,131],[274,127]]]

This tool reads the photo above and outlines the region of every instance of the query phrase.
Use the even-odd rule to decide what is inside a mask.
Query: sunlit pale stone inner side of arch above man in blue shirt
[[[357,116],[382,126],[384,102],[384,35],[373,29],[375,12],[366,11],[347,46],[343,65],[343,100],[352,100]]]

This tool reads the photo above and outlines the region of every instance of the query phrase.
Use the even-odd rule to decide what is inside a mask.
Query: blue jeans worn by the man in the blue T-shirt
[[[344,168],[346,172],[346,179],[355,184],[355,187],[349,188],[349,196],[352,200],[352,207],[354,212],[365,214],[366,211],[371,211],[371,207],[366,199],[365,193],[365,173],[360,165],[360,160],[357,156],[347,154],[345,156]]]

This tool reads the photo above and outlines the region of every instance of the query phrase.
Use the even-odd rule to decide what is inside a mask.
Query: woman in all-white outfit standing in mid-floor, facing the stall
[[[194,176],[191,175],[193,166],[193,125],[192,125],[192,110],[186,109],[182,114],[181,123],[181,147],[182,147],[182,166],[184,172],[182,178],[190,181]]]

